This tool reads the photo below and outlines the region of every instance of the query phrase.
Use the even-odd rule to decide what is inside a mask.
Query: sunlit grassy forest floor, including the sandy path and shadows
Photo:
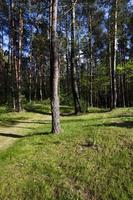
[[[0,199],[132,199],[133,108],[74,116],[62,106],[60,135],[48,106],[26,110],[0,108]]]

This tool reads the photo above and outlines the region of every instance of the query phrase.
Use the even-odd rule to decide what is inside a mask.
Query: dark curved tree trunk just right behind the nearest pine
[[[72,0],[72,30],[71,30],[71,81],[72,81],[72,92],[75,107],[75,114],[81,112],[79,89],[77,84],[77,72],[76,72],[76,55],[75,55],[75,5],[76,1]]]

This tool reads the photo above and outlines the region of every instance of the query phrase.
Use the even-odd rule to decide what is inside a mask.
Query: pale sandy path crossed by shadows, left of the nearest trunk
[[[3,124],[0,121],[0,151],[7,149],[21,137],[32,134],[37,128],[44,126],[46,120],[50,120],[50,116],[34,114],[32,118],[17,120],[14,124]]]

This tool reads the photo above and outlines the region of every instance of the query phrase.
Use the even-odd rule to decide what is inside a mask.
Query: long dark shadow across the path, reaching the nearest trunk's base
[[[2,137],[9,137],[9,138],[28,138],[28,137],[33,137],[33,136],[40,136],[40,135],[49,135],[51,134],[50,132],[40,132],[40,133],[34,133],[34,134],[29,134],[29,135],[19,135],[17,133],[0,133],[0,136]]]

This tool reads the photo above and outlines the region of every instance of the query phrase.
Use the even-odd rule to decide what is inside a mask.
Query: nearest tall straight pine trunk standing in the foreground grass
[[[58,0],[51,0],[51,112],[52,112],[52,133],[60,133],[60,109],[59,109],[59,62],[57,43],[57,9]]]

